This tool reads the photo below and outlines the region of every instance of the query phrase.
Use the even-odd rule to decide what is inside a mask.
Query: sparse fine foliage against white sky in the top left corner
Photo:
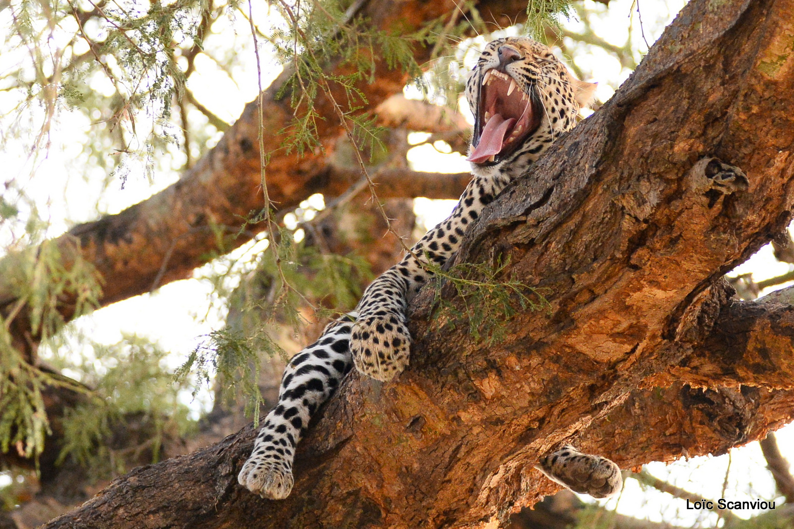
[[[17,90],[27,93],[18,110],[36,102],[45,110],[35,147],[45,145],[52,118],[64,107],[100,110],[97,124],[108,123],[107,132],[126,129],[129,137],[117,135],[121,152],[150,157],[153,146],[174,141],[168,132],[172,101],[181,97],[186,81],[175,50],[201,46],[206,0],[10,2],[8,9],[14,31],[6,50],[27,56],[13,75]],[[98,96],[92,88],[96,75],[112,84],[113,95]],[[138,134],[145,138],[140,150],[133,147]]]

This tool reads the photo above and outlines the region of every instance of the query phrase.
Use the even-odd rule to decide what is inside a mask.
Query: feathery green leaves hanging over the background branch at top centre
[[[345,120],[355,137],[376,142],[379,134],[372,118],[357,112],[367,102],[357,84],[377,82],[375,57],[384,60],[389,68],[419,75],[421,70],[412,48],[422,44],[423,36],[373,31],[355,16],[349,2],[279,1],[274,5],[287,23],[272,28],[267,38],[290,74],[276,98],[288,95],[291,106],[298,110],[295,122],[283,131],[287,135],[283,148],[287,153],[292,149],[299,153],[322,149],[317,128],[318,122],[327,117],[314,106],[320,94],[332,100],[335,117]],[[341,67],[337,71],[349,73],[331,73],[327,67],[332,63]]]

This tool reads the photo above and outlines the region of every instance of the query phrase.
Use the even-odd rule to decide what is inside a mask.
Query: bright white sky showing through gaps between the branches
[[[672,20],[674,14],[684,5],[682,0],[673,2],[642,2],[642,31],[640,28],[636,4],[632,9],[631,0],[612,0],[609,8],[587,0],[588,8],[600,13],[592,21],[593,29],[600,37],[611,44],[622,46],[629,38],[633,48],[646,49],[642,33],[649,43],[653,43],[661,34],[663,26]],[[256,10],[259,10],[257,13]],[[264,4],[256,3],[255,20],[267,27]],[[0,22],[5,21],[0,18]],[[7,21],[6,21],[7,22]],[[565,22],[565,27],[572,31],[584,30],[580,21]],[[9,24],[0,24],[2,32],[9,31]],[[214,33],[223,35],[206,39],[206,49],[210,56],[199,54],[196,59],[196,72],[188,83],[196,98],[204,103],[227,122],[233,122],[241,114],[245,102],[256,97],[256,63],[247,22],[237,17],[231,21],[221,17],[213,27]],[[510,33],[515,34],[515,30]],[[480,44],[484,44],[481,41]],[[229,60],[233,50],[234,66],[229,71],[219,67],[219,63]],[[639,57],[638,57],[639,59]],[[8,71],[21,58],[12,54],[0,56],[0,72]],[[603,52],[601,48],[581,46],[577,48],[576,66],[584,71],[585,80],[599,83],[597,97],[606,101],[625,80],[630,71],[624,69],[614,57]],[[279,74],[280,68],[274,64],[266,64],[263,71],[263,86],[267,86]],[[110,91],[98,76],[91,84],[98,92]],[[409,97],[418,97],[418,91],[407,89]],[[7,114],[16,104],[13,97],[0,91],[0,115]],[[468,114],[468,109],[461,108]],[[34,111],[33,116],[37,113]],[[206,123],[206,117],[198,110],[191,110],[191,122]],[[53,125],[50,141],[51,147],[44,159],[35,160],[36,171],[31,174],[33,162],[20,141],[5,141],[5,150],[0,153],[0,164],[7,174],[18,175],[17,179],[25,182],[25,189],[36,200],[40,210],[48,210],[51,236],[62,233],[75,222],[91,220],[95,215],[94,204],[99,210],[112,214],[118,213],[130,205],[148,198],[173,183],[179,176],[176,171],[184,162],[184,154],[176,148],[168,148],[168,156],[164,158],[164,166],[156,168],[152,180],[145,176],[144,164],[141,160],[129,160],[129,175],[123,188],[118,178],[110,180],[107,191],[100,192],[98,181],[106,177],[101,168],[91,168],[83,149],[86,138],[75,134],[75,130],[87,130],[90,123],[76,112],[64,111]],[[209,129],[210,127],[208,127]],[[2,133],[0,133],[2,137]],[[206,145],[212,146],[222,137],[215,133],[208,137]],[[420,141],[420,137],[412,137]],[[438,145],[443,149],[443,145]],[[467,172],[468,163],[459,154],[442,154],[431,145],[423,145],[409,152],[409,161],[414,169],[435,172]],[[87,169],[88,168],[88,169]],[[322,207],[322,199],[315,198],[314,207]],[[416,199],[414,210],[426,226],[434,226],[449,214],[455,201],[430,201]],[[0,230],[0,241],[6,242],[11,234]],[[261,244],[256,249],[261,249]],[[256,252],[251,245],[235,251],[233,257],[250,256]],[[210,268],[219,264],[208,264],[199,269],[195,276],[201,277]],[[788,272],[789,265],[777,262],[769,246],[742,264],[736,272],[753,272],[756,280]],[[132,299],[114,303],[110,307],[94,312],[75,322],[75,327],[87,334],[94,341],[114,343],[121,339],[122,334],[138,334],[159,342],[164,349],[172,351],[173,366],[180,365],[187,354],[212,329],[223,324],[222,308],[210,306],[208,298],[212,288],[207,281],[199,279],[176,281],[167,284],[151,295],[140,295]],[[203,393],[196,402],[191,403],[196,411],[211,405],[210,396]],[[778,432],[778,439],[784,455],[789,461],[794,458],[794,429],[784,428]],[[773,496],[773,481],[763,468],[765,463],[757,443],[731,451],[730,488],[736,490],[734,499],[765,498]],[[705,498],[722,496],[723,477],[728,466],[727,456],[721,458],[696,458],[687,462],[676,462],[672,465],[652,464],[648,469],[656,476],[665,478],[691,492],[702,494]],[[0,474],[0,486],[4,485]],[[583,496],[584,499],[584,496]],[[604,503],[604,502],[602,502]],[[647,516],[649,519],[679,523],[692,527],[713,527],[716,516],[713,514],[687,512],[683,502],[671,500],[671,497],[653,490],[641,491],[636,481],[626,482],[622,496],[617,500],[609,500],[607,505],[630,515]],[[746,517],[750,513],[734,512]]]

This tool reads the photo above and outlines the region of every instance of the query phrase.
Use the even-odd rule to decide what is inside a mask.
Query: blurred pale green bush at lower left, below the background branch
[[[126,465],[141,464],[142,454],[156,462],[165,437],[195,428],[179,401],[191,387],[174,381],[166,351],[125,335],[111,346],[92,344],[92,352],[70,367],[93,390],[83,403],[66,409],[59,461],[71,458],[97,477],[123,473]]]

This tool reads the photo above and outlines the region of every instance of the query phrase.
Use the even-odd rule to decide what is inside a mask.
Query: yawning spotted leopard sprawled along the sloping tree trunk
[[[465,88],[474,115],[466,158],[472,180],[449,218],[378,276],[353,311],[330,322],[316,342],[292,357],[278,403],[265,417],[237,477],[242,486],[266,499],[289,496],[298,442],[353,366],[383,383],[406,369],[410,301],[429,283],[433,269],[457,252],[483,208],[576,125],[579,110],[588,106],[594,91],[594,83],[577,79],[550,48],[529,37],[505,37],[485,46]],[[570,445],[545,455],[537,468],[575,492],[599,498],[622,488],[618,465]]]

